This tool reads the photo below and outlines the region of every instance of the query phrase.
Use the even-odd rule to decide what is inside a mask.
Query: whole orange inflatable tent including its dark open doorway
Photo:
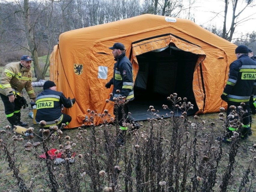
[[[64,109],[72,116],[67,128],[81,126],[87,109],[98,114],[108,109],[113,115],[113,103],[105,102],[112,87],[106,89],[105,84],[113,76],[114,57],[108,47],[115,42],[125,45],[133,64],[135,99],[130,108],[143,104],[146,107],[136,111],[147,113],[149,105],[161,99],[159,108],[171,105],[166,98],[172,93],[194,101],[196,113],[218,112],[226,105],[220,96],[229,64],[236,59],[236,45],[190,20],[144,14],[59,36],[50,58],[50,79],[58,91],[76,99],[72,108]],[[102,123],[102,118],[94,123]]]

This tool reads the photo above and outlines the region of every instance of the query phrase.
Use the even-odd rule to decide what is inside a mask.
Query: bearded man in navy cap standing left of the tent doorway
[[[133,66],[130,60],[125,55],[125,47],[122,43],[115,43],[113,47],[109,47],[112,50],[114,60],[114,76],[111,80],[105,85],[108,89],[113,85],[113,96],[110,100],[114,101],[114,98],[125,97],[125,100],[133,100]],[[120,93],[117,93],[117,90],[120,90]],[[124,114],[123,114],[124,111]],[[121,132],[117,138],[117,143],[120,145],[124,144],[124,138],[126,134],[127,126],[123,126],[124,122],[133,123],[135,128],[139,128],[139,124],[133,122],[128,116],[129,112],[129,102],[126,102],[124,105],[118,105],[117,109],[114,109],[114,114],[118,120]]]

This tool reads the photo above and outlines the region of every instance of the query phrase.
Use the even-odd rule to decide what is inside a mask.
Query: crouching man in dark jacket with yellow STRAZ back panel
[[[40,124],[40,121],[46,121],[44,127],[57,125],[62,123],[68,125],[72,118],[65,113],[62,113],[62,105],[66,108],[71,108],[75,103],[75,99],[67,99],[63,93],[56,91],[56,84],[53,81],[45,81],[44,91],[36,97],[36,115],[35,121]]]

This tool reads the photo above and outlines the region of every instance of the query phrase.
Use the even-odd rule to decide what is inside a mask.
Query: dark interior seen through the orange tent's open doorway
[[[135,99],[129,103],[131,116],[135,121],[151,118],[148,112],[153,105],[157,114],[166,116],[169,109],[163,109],[162,105],[172,108],[172,103],[167,97],[177,93],[178,97],[194,104],[194,109],[187,114],[198,111],[192,89],[194,68],[198,55],[178,49],[174,45],[161,50],[151,51],[137,56],[139,72],[134,85]],[[183,100],[181,101],[183,102]],[[179,116],[183,111],[175,111]]]

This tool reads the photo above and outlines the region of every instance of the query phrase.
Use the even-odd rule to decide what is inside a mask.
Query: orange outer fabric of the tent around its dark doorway
[[[51,57],[50,79],[55,81],[57,89],[66,97],[75,97],[77,101],[74,107],[64,111],[72,116],[67,128],[81,126],[87,109],[97,113],[108,109],[113,115],[113,105],[105,102],[111,89],[105,89],[105,84],[113,76],[114,58],[108,47],[115,42],[125,45],[126,55],[133,63],[134,80],[139,72],[139,55],[170,44],[181,51],[193,53],[197,56],[194,63],[191,60],[194,69],[190,69],[189,61],[186,64],[194,71],[188,77],[193,77],[192,85],[186,85],[184,89],[193,89],[198,112],[216,112],[221,106],[226,106],[220,95],[227,81],[229,64],[236,59],[236,45],[190,20],[145,14],[65,32],[59,36],[59,44]],[[182,65],[181,61],[172,62],[177,62],[177,70]],[[76,69],[78,65],[80,74]],[[176,81],[175,89],[177,78],[167,80]],[[171,88],[166,89],[165,93]],[[102,119],[97,117],[94,123],[102,123]]]

